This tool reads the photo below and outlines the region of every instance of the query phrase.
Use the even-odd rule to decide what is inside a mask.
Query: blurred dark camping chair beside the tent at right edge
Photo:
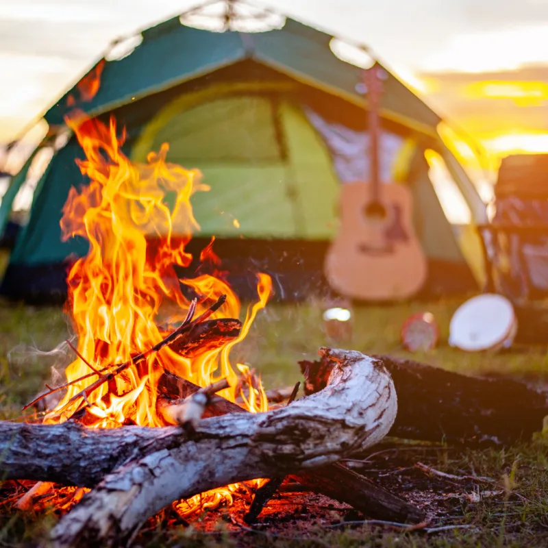
[[[510,299],[522,327],[522,342],[545,342],[548,154],[512,155],[502,160],[495,185],[495,215],[477,229],[486,264],[484,290]]]

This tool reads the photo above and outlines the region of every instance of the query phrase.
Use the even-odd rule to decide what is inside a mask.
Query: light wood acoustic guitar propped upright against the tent
[[[369,182],[349,182],[340,193],[340,229],[325,257],[332,288],[353,299],[393,301],[412,297],[425,283],[426,258],[412,224],[407,186],[379,177],[379,103],[382,67],[364,71],[369,96]]]

